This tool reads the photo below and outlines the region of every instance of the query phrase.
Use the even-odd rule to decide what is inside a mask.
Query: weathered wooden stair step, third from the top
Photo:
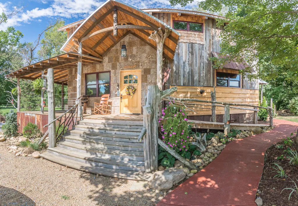
[[[135,142],[137,143],[138,135],[117,135],[117,134],[107,134],[107,133],[99,133],[99,132],[91,132],[91,131],[83,131],[83,130],[67,130],[66,134],[71,134],[73,136],[78,137],[89,137],[98,140],[110,140],[117,142]]]

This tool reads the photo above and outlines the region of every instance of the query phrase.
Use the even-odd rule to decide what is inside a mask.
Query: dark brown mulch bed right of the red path
[[[290,147],[293,151],[298,151],[298,144],[296,143],[296,138],[292,137],[293,144]],[[276,148],[276,145],[284,145],[283,149]],[[257,190],[257,197],[263,199],[264,206],[283,206],[283,205],[298,205],[298,194],[293,192],[288,200],[289,194],[292,190],[283,190],[284,188],[294,188],[295,185],[291,182],[293,179],[297,186],[298,186],[298,165],[290,165],[289,160],[287,158],[283,160],[277,160],[277,157],[283,155],[284,157],[287,155],[287,152],[284,151],[288,147],[285,146],[283,140],[277,144],[271,146],[265,154],[265,164],[264,164],[264,171],[263,175]],[[284,170],[285,174],[290,178],[277,178],[274,176],[277,174],[272,168],[277,166],[273,165],[273,163],[277,163],[280,165]],[[271,173],[272,172],[272,173]],[[296,179],[297,178],[297,179]],[[281,193],[281,191],[283,192]]]

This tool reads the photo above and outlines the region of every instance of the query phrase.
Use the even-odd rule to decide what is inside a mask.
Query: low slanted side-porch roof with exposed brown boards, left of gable
[[[13,71],[5,78],[21,78],[35,80],[41,78],[41,71],[45,70],[44,74],[47,74],[47,69],[54,69],[54,83],[67,85],[68,69],[76,68],[78,60],[82,58],[83,65],[92,65],[102,62],[102,59],[89,55],[80,55],[76,52],[67,52],[37,63],[25,66],[21,69]]]

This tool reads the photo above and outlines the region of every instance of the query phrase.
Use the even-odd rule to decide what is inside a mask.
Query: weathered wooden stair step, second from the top
[[[126,134],[126,135],[139,135],[142,129],[126,129],[126,128],[113,128],[113,127],[96,127],[88,125],[74,125],[74,129],[82,131],[92,131],[107,134]]]

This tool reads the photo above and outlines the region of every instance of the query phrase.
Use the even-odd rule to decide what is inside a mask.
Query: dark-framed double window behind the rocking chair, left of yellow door
[[[101,97],[110,94],[110,72],[97,72],[86,74],[86,95]]]

